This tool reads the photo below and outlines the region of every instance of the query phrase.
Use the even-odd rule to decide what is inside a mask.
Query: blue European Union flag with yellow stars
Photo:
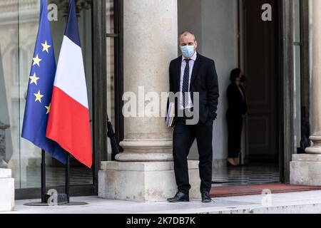
[[[56,74],[56,61],[47,18],[46,0],[41,0],[39,30],[29,77],[22,138],[49,152],[52,157],[66,163],[66,151],[57,142],[46,138],[47,121],[51,108],[51,95]]]

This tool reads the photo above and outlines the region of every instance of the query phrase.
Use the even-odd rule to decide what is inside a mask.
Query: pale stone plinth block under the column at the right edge
[[[321,155],[292,155],[290,184],[321,186]]]

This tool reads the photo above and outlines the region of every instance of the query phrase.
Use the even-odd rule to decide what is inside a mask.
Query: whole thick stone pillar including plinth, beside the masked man
[[[149,102],[143,96],[168,91],[169,63],[178,53],[177,10],[177,0],[123,2],[124,92],[136,95],[138,117],[124,120],[117,161],[101,163],[99,197],[155,202],[175,195],[172,130],[165,118],[144,115]],[[198,162],[189,165],[193,197],[199,195]]]

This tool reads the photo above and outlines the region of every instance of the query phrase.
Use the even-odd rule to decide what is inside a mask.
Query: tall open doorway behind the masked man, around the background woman
[[[272,21],[263,21],[263,5]],[[193,5],[193,16],[186,14]],[[277,0],[180,0],[178,30],[193,31],[198,51],[215,61],[220,87],[218,120],[213,130],[213,187],[280,182],[282,164],[282,3]],[[227,168],[227,88],[230,71],[247,76],[248,117],[242,139],[244,166]],[[195,144],[189,159],[197,160]]]

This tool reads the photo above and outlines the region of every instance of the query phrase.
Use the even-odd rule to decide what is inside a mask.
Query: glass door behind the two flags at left
[[[93,120],[92,1],[76,0],[75,2],[88,103],[91,120]],[[54,39],[56,61],[58,61],[66,27],[68,1],[49,0],[48,4],[49,14],[54,15],[51,18],[51,33]],[[41,149],[21,138],[26,90],[39,26],[39,8],[39,0],[0,2],[0,167],[8,167],[12,170],[16,190],[41,186]],[[73,157],[71,158],[72,186],[93,185],[93,174],[93,168],[88,169]],[[64,166],[47,154],[47,187],[55,188],[64,185],[64,177]]]

